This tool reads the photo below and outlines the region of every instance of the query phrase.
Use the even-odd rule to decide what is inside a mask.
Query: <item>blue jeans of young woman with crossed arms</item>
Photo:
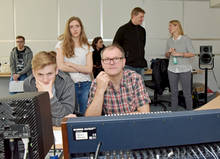
[[[79,105],[79,112],[83,115],[87,108],[91,83],[91,81],[75,83],[76,102]]]

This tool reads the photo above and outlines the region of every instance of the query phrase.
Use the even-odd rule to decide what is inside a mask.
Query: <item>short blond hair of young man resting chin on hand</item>
[[[34,55],[32,59],[32,69],[34,71],[42,69],[48,65],[54,65],[55,67],[57,67],[56,52],[41,51],[41,52],[38,52],[36,55]]]

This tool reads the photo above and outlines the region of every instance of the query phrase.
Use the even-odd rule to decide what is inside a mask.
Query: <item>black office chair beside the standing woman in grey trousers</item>
[[[162,95],[165,88],[170,88],[167,73],[168,63],[168,59],[153,59],[151,61],[152,80],[144,81],[146,87],[154,90],[154,96],[153,99],[151,99],[151,103],[154,105],[161,105],[164,111],[167,110],[164,103],[170,106],[171,102],[158,99],[158,95]]]

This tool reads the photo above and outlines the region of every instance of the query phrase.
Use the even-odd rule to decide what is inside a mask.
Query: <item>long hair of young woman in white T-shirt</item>
[[[64,33],[62,35],[60,35],[58,38],[58,40],[63,40],[62,51],[63,51],[63,55],[66,56],[67,58],[75,56],[75,52],[74,52],[75,43],[72,39],[72,34],[70,32],[70,26],[69,26],[70,23],[74,20],[79,22],[80,27],[81,27],[81,33],[80,33],[80,37],[79,37],[80,47],[82,47],[83,44],[86,44],[89,47],[89,42],[86,37],[82,21],[78,17],[74,17],[74,16],[70,17],[66,23]]]

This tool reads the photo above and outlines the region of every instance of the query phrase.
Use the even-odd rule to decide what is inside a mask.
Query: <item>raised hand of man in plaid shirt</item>
[[[105,92],[108,87],[109,81],[109,76],[104,71],[101,71],[96,77],[97,90]]]

